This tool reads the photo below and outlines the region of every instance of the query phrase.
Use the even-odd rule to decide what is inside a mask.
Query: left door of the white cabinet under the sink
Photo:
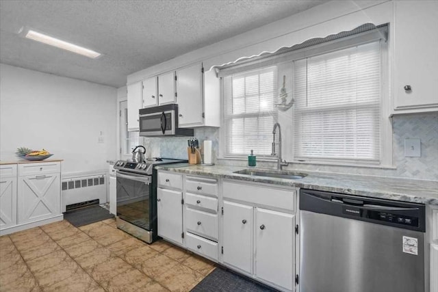
[[[253,272],[253,207],[224,200],[223,261]]]

